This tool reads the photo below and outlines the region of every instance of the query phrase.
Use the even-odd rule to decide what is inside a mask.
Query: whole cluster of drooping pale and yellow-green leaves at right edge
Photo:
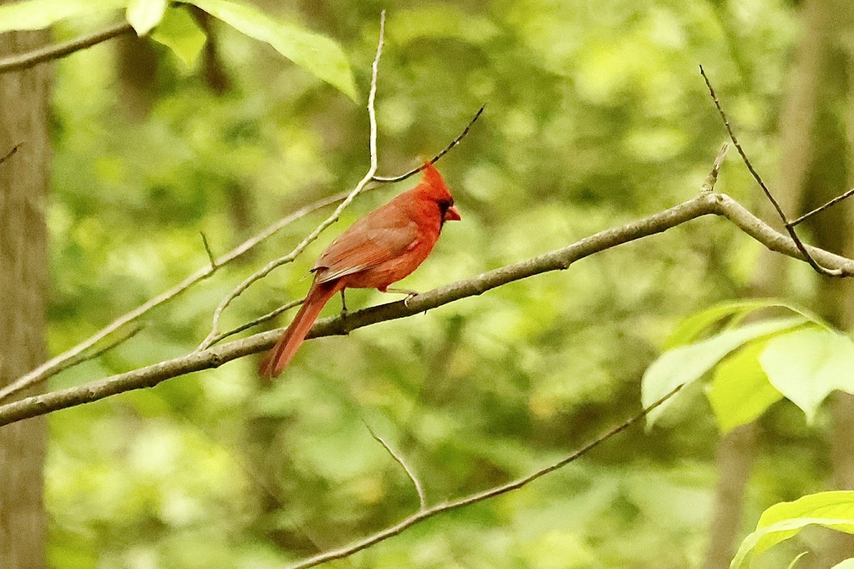
[[[739,325],[765,308],[785,308],[798,316]],[[727,319],[722,330],[696,340]],[[810,326],[802,326],[806,322]],[[644,374],[644,404],[715,368],[707,395],[724,432],[754,421],[781,398],[803,409],[811,423],[831,392],[854,392],[854,342],[816,316],[776,300],[728,302],[699,311],[682,321],[665,345],[672,347]],[[648,415],[650,425],[667,404]]]

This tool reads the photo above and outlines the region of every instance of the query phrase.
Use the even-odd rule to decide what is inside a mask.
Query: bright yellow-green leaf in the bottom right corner
[[[760,516],[756,531],[741,542],[730,569],[749,566],[754,554],[794,537],[808,525],[854,533],[854,491],[819,492],[771,506]]]

